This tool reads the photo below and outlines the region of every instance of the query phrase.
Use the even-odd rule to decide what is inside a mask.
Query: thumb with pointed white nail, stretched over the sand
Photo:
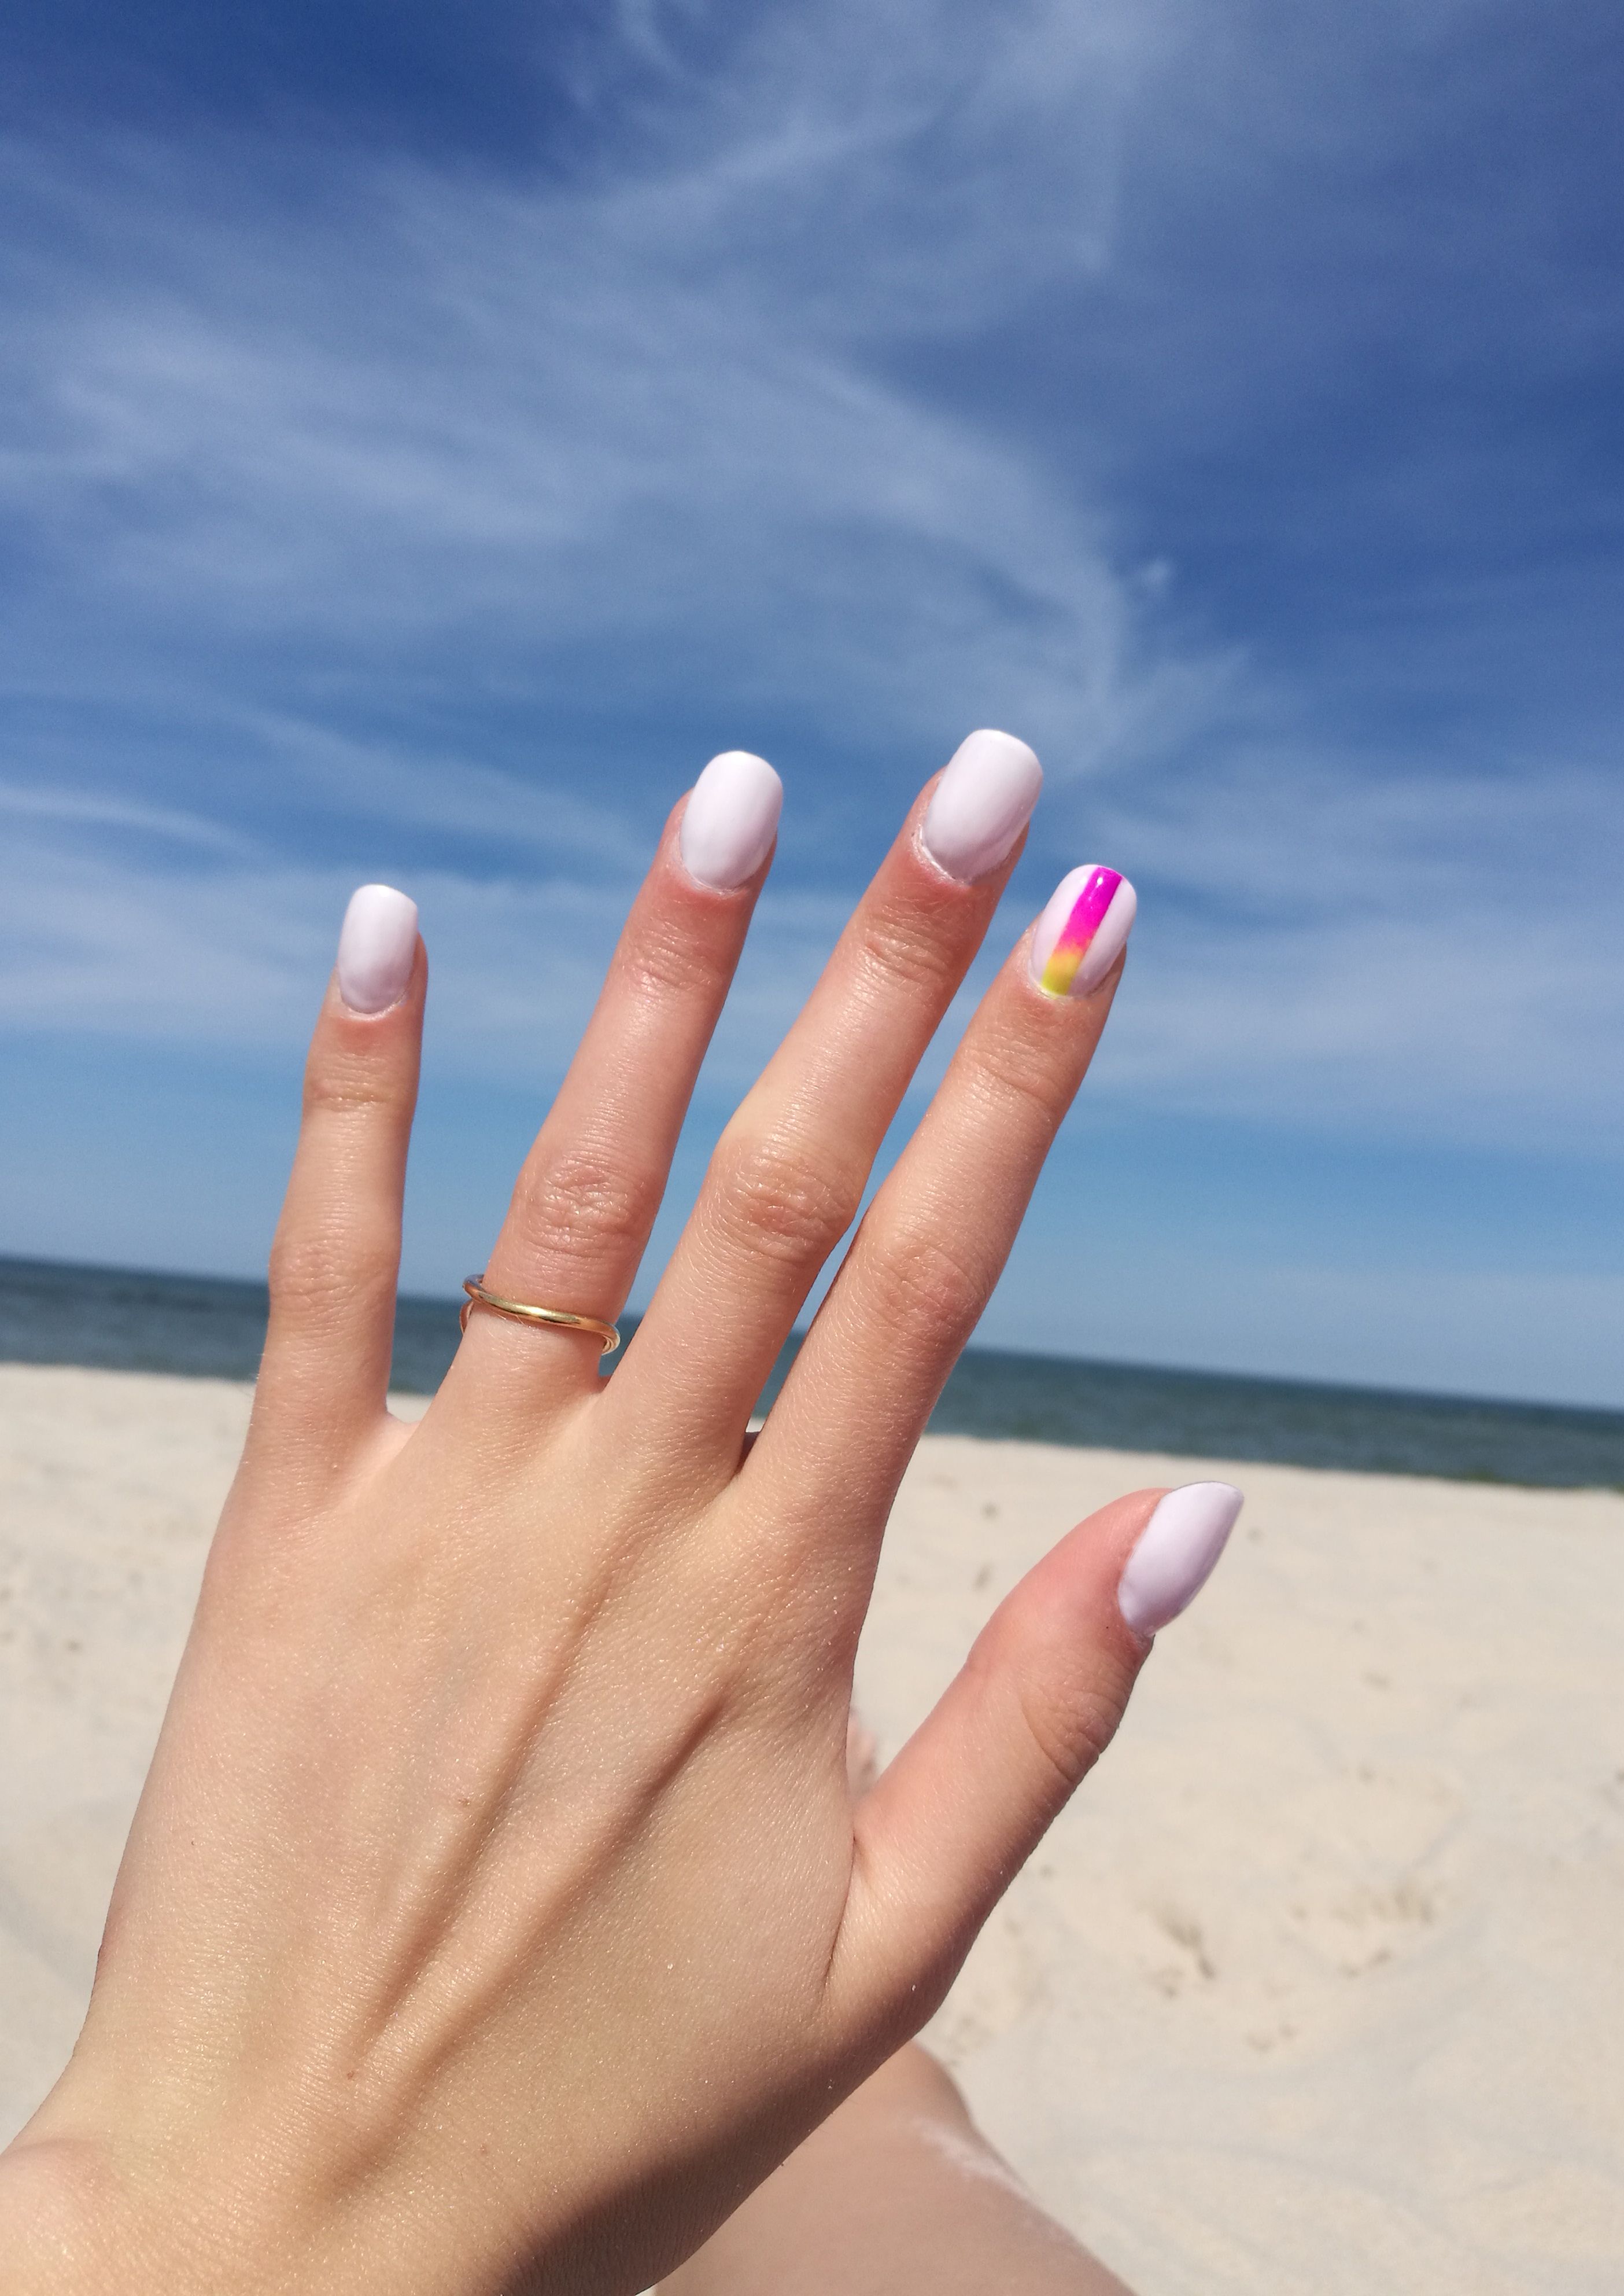
[[[1207,1584],[1232,1483],[1112,1499],[998,1605],[959,1676],[856,1809],[830,1977],[860,2016],[924,2023],[982,1922],[1110,1745],[1156,1628]]]

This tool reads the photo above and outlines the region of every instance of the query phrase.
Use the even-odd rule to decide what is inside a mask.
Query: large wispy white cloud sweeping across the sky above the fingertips
[[[601,184],[358,163],[266,207],[151,149],[94,191],[14,152],[64,239],[14,280],[0,496],[112,641],[99,673],[50,585],[14,661],[546,687],[585,647],[622,696],[684,664],[869,744],[1018,714],[1064,760],[1142,751],[1213,668],[1158,664],[1094,521],[876,354],[1099,266],[1156,39],[1053,0],[775,11]]]

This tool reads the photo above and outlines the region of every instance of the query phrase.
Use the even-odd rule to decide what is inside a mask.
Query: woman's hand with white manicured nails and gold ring
[[[1158,1518],[1135,1632],[1156,1495],[1083,1525],[853,1807],[881,1534],[1106,1024],[1110,872],[1005,964],[752,1449],[745,1424],[1037,781],[975,735],[920,799],[617,1375],[475,1311],[411,1428],[385,1387],[427,974],[411,905],[358,900],[89,2018],[0,2177],[7,2287],[638,2289],[936,2007],[1227,1529],[1223,1499]],[[495,1293],[626,1300],[775,817],[734,755],[667,824]]]

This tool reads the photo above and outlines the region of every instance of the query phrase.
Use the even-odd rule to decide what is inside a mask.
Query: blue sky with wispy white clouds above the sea
[[[0,1249],[255,1270],[385,877],[454,1288],[748,746],[647,1293],[991,723],[1048,769],[998,951],[1076,861],[1142,907],[984,1336],[1624,1403],[1610,0],[18,14]]]

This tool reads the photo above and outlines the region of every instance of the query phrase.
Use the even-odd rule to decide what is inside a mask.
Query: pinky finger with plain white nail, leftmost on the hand
[[[427,983],[417,905],[365,884],[344,914],[305,1063],[255,1401],[261,1428],[289,1433],[294,1421],[335,1465],[388,1398]]]

